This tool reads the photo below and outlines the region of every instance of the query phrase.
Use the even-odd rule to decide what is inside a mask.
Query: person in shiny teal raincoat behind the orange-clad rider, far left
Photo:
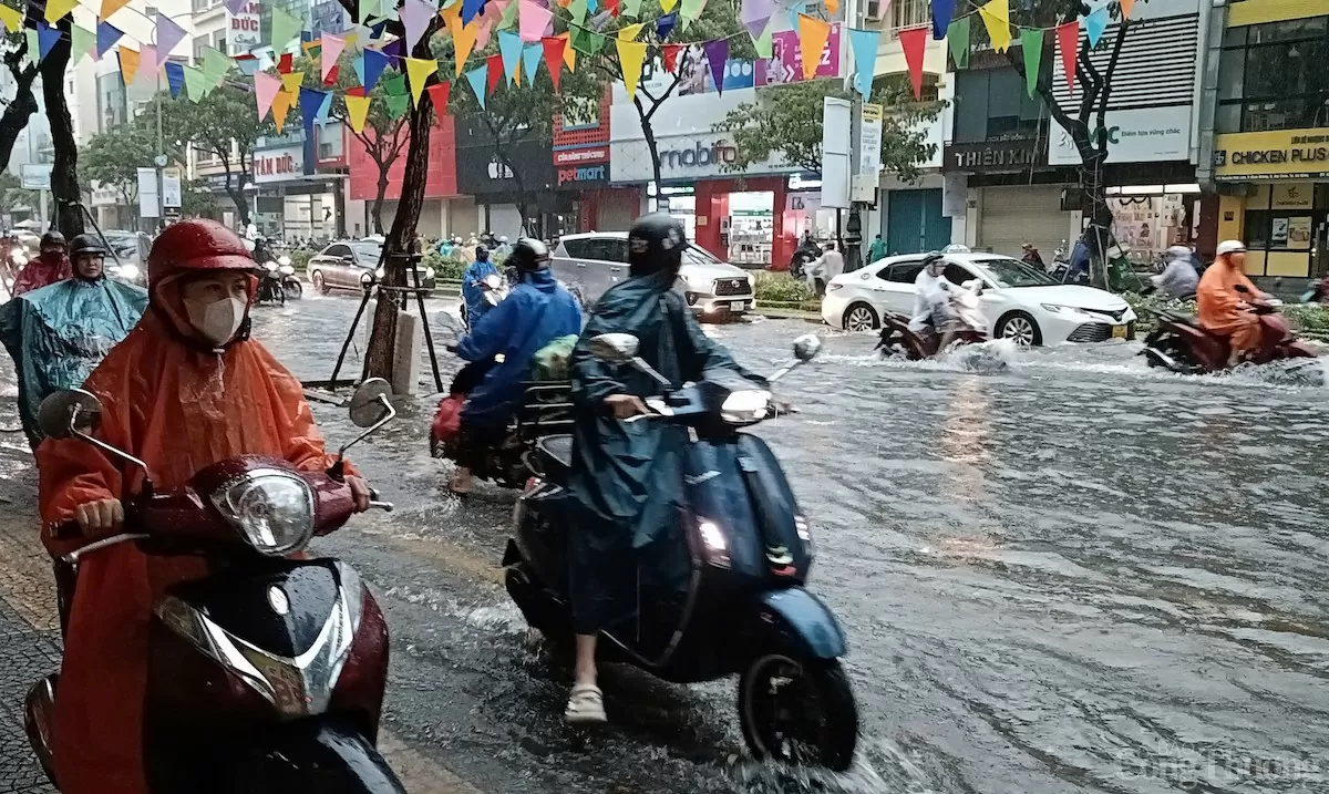
[[[69,246],[73,278],[0,305],[0,343],[19,373],[19,418],[33,447],[43,439],[37,406],[60,389],[81,386],[148,307],[142,287],[108,279],[106,248],[93,235]]]

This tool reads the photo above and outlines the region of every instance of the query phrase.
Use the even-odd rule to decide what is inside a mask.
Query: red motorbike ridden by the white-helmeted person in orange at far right
[[[1245,288],[1237,285],[1239,292]],[[1260,345],[1248,358],[1251,364],[1268,364],[1281,358],[1314,358],[1317,352],[1292,333],[1288,321],[1275,304],[1251,297],[1251,311],[1260,320]],[[1150,366],[1162,366],[1179,374],[1212,374],[1228,369],[1231,348],[1224,336],[1209,333],[1199,320],[1181,312],[1163,312],[1158,325],[1144,340],[1140,356]]]

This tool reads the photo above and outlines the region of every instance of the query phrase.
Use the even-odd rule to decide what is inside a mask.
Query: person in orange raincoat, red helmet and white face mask
[[[146,462],[159,489],[239,454],[284,458],[306,470],[332,462],[300,382],[249,339],[253,267],[239,236],[218,223],[167,228],[148,259],[146,313],[84,384],[104,406],[96,436]],[[77,519],[89,538],[118,531],[120,501],[144,481],[137,467],[77,439],[44,441],[37,469],[43,540],[52,554],[70,550],[51,536],[56,522]],[[354,471],[347,481],[356,507],[367,509],[368,487]],[[149,558],[128,543],[81,562],[56,693],[56,777],[64,794],[146,791],[149,616],[166,587],[205,571],[201,559]]]

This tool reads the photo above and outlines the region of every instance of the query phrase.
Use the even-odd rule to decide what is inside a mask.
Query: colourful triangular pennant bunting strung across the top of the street
[[[17,9],[0,4],[0,24],[11,33],[23,31],[27,36],[29,58],[40,62],[62,37],[57,24],[84,3],[97,0],[48,0],[43,19],[32,28],[24,29],[24,16]],[[233,13],[239,13],[251,0],[223,0]],[[1026,58],[1027,90],[1033,96],[1042,60],[1045,36],[1051,32],[1062,60],[1067,84],[1074,90],[1075,58],[1080,31],[1096,46],[1108,25],[1108,5],[1112,0],[1091,0],[1091,11],[1054,28],[1031,28],[1011,25],[1010,5],[1017,0],[930,0],[930,25],[905,28],[897,32],[909,78],[916,97],[922,94],[924,53],[928,35],[933,40],[948,42],[957,68],[968,66],[969,42],[973,19],[977,16],[987,32],[997,52],[1006,52],[1014,40],[1019,40]],[[1023,0],[1027,7],[1027,0]],[[1135,0],[1115,0],[1122,15],[1130,17]],[[280,7],[268,11],[268,39],[272,42],[275,70],[267,72],[268,58],[246,53],[227,56],[215,48],[202,46],[201,57],[187,65],[169,60],[183,39],[185,29],[175,20],[158,12],[154,17],[154,33],[150,42],[137,41],[137,49],[125,31],[110,21],[110,17],[124,9],[129,0],[100,0],[97,25],[89,31],[77,23],[70,24],[72,61],[86,56],[102,58],[112,50],[120,62],[125,84],[141,74],[163,73],[173,97],[185,94],[198,102],[219,85],[227,81],[237,68],[253,80],[255,109],[259,118],[270,113],[280,131],[287,114],[299,108],[306,125],[330,117],[334,86],[338,81],[338,62],[348,46],[356,46],[354,58],[359,86],[338,92],[346,104],[347,123],[358,134],[361,133],[371,108],[371,92],[380,82],[384,88],[384,104],[389,117],[400,118],[411,106],[417,106],[423,96],[428,96],[436,109],[436,116],[447,113],[453,82],[465,82],[481,108],[504,80],[508,85],[520,85],[522,80],[534,84],[541,64],[549,74],[554,90],[560,89],[562,70],[577,68],[577,56],[593,57],[603,50],[607,41],[614,42],[613,52],[622,69],[625,88],[629,96],[635,96],[647,56],[654,50],[661,57],[664,69],[678,73],[680,54],[696,58],[696,65],[708,68],[718,92],[723,90],[723,73],[728,60],[730,41],[748,36],[759,58],[772,57],[772,21],[780,11],[788,15],[789,24],[797,36],[799,60],[803,80],[812,80],[827,49],[832,31],[837,23],[808,11],[808,0],[743,0],[739,9],[742,31],[722,39],[706,41],[670,41],[675,32],[686,32],[692,21],[699,19],[707,0],[662,0],[663,12],[654,20],[641,19],[642,0],[361,0],[360,15],[355,20],[359,28],[340,33],[323,33],[316,40],[307,40],[302,21]],[[956,17],[957,3],[964,3],[968,11]],[[839,0],[823,0],[831,16],[839,11]],[[452,78],[448,69],[433,58],[411,57],[415,45],[424,37],[437,15],[443,19],[441,31],[453,40],[455,64]],[[554,33],[556,19],[563,23],[566,31]],[[639,20],[621,24],[617,31],[605,33],[611,19]],[[401,24],[403,36],[393,39],[385,35],[388,21]],[[359,39],[368,29],[368,41],[363,46]],[[650,31],[654,41],[642,41],[642,33]],[[853,60],[853,86],[864,97],[872,92],[876,73],[877,49],[882,31],[844,28],[849,40]],[[294,42],[311,54],[318,50],[318,72],[320,88],[304,85],[306,74],[294,69]],[[476,50],[486,49],[497,42],[497,52],[489,54],[482,64],[466,70],[464,66]],[[388,70],[393,74],[385,76]],[[436,77],[433,84],[429,80]]]

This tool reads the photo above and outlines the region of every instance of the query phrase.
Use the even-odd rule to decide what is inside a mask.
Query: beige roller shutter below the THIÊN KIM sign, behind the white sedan
[[[1070,212],[1062,211],[1062,186],[981,187],[978,248],[1021,256],[1021,246],[1034,243],[1043,262],[1053,260],[1070,234]],[[1069,250],[1069,248],[1067,248]]]

